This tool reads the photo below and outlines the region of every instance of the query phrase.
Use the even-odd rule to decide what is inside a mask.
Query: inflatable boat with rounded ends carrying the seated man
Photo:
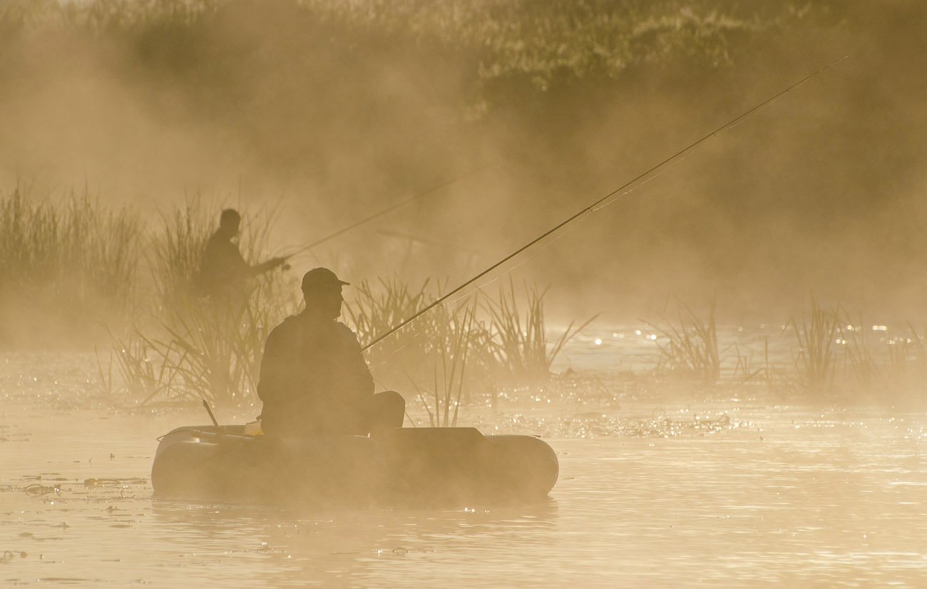
[[[475,428],[273,439],[245,426],[187,426],[160,438],[156,496],[318,506],[529,502],[559,474],[551,446]]]

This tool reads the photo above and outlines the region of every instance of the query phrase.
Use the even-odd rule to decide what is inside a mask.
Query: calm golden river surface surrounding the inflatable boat
[[[187,504],[152,497],[151,460],[157,436],[203,415],[119,409],[83,386],[79,360],[57,362],[0,374],[0,586],[927,583],[924,414],[737,398],[503,407],[480,428],[584,423],[545,436],[561,475],[540,505]]]

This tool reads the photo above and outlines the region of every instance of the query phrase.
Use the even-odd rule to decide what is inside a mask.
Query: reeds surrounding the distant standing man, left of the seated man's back
[[[133,339],[113,338],[114,347],[125,351],[118,358],[126,387],[146,401],[162,395],[169,401],[255,402],[264,342],[298,307],[295,279],[279,272],[255,277],[241,298],[210,299],[197,292],[216,210],[197,198],[162,214],[149,253],[157,299],[152,316],[144,334],[136,329]],[[243,257],[248,262],[268,257],[275,214],[242,216]]]

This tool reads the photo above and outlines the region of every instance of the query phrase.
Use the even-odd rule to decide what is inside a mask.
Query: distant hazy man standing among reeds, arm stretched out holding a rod
[[[286,258],[272,258],[267,262],[250,265],[232,243],[238,235],[241,215],[235,209],[225,209],[219,217],[219,229],[206,243],[203,263],[197,279],[197,289],[213,299],[232,297],[244,301],[248,297],[248,279],[260,275],[286,262]]]

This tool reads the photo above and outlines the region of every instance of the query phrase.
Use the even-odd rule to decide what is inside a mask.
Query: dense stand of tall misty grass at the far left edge
[[[86,192],[57,201],[31,198],[21,187],[6,193],[0,197],[2,323],[10,328],[28,317],[54,339],[79,335],[95,322],[125,320],[135,311],[142,235],[135,215],[108,211]]]

